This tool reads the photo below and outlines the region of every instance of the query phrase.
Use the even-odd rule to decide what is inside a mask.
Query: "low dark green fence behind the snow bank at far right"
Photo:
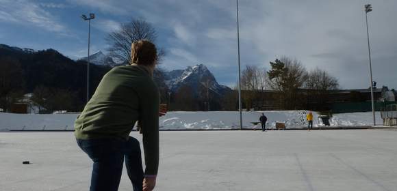
[[[382,111],[389,104],[397,102],[375,102],[375,111]],[[372,111],[371,102],[350,102],[350,103],[333,103],[331,104],[332,113],[353,113]]]

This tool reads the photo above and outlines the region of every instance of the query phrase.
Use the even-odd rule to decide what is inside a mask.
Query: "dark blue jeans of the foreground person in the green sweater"
[[[94,162],[90,191],[118,190],[124,158],[133,190],[142,190],[144,173],[139,141],[136,138],[129,136],[128,141],[111,138],[77,139],[77,145]]]

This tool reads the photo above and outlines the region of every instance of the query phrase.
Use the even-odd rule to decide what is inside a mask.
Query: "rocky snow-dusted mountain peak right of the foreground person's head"
[[[210,89],[218,95],[222,95],[225,91],[230,90],[227,86],[219,85],[214,75],[203,64],[189,66],[185,70],[166,72],[165,78],[166,85],[168,85],[168,88],[172,92],[178,91],[183,85],[188,85],[196,91],[200,88]]]

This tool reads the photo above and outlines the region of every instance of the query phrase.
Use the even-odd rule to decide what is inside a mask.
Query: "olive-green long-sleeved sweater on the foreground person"
[[[159,164],[159,91],[142,66],[113,68],[103,76],[91,100],[75,121],[77,139],[127,140],[136,121],[142,130],[146,175]]]

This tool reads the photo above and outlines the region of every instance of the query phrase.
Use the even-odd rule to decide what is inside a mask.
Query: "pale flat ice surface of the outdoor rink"
[[[155,190],[397,190],[396,130],[160,132],[160,138]],[[88,190],[91,165],[73,132],[0,132],[1,191]],[[131,190],[125,171],[119,190]]]

